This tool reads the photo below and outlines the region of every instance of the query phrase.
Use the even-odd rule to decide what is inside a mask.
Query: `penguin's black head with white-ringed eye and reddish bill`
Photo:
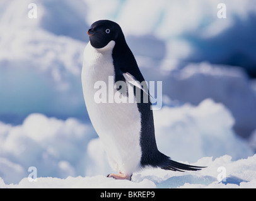
[[[124,39],[124,34],[119,24],[110,20],[96,21],[91,24],[87,33],[94,48],[103,48],[112,40],[117,42],[117,40]]]

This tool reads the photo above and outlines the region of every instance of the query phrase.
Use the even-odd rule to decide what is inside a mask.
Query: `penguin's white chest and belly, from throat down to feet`
[[[131,174],[141,161],[141,114],[136,102],[117,103],[112,97],[120,93],[113,87],[114,46],[114,41],[101,49],[93,48],[90,42],[86,46],[81,76],[83,94],[91,123],[105,146],[110,165],[117,171]],[[96,100],[99,93],[107,102]],[[107,97],[102,97],[105,95]]]

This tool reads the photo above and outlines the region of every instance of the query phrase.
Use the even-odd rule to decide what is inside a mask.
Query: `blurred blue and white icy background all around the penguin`
[[[209,166],[145,170],[120,187],[256,187],[255,1],[34,0],[37,19],[28,18],[30,3],[0,1],[0,187],[36,185],[30,166],[42,177],[37,187],[45,177],[52,187],[119,187],[95,176],[111,170],[81,88],[86,31],[98,19],[117,21],[145,79],[163,81],[160,151]],[[228,184],[218,182],[219,166]]]

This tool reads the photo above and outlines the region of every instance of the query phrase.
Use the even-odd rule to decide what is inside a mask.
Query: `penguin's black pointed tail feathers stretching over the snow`
[[[172,170],[172,171],[183,171],[183,170],[197,171],[197,170],[201,170],[202,168],[206,168],[206,166],[186,165],[183,163],[178,163],[177,161],[173,161],[170,158],[168,158],[168,161],[165,161],[165,163],[160,165],[160,168],[164,170]]]

